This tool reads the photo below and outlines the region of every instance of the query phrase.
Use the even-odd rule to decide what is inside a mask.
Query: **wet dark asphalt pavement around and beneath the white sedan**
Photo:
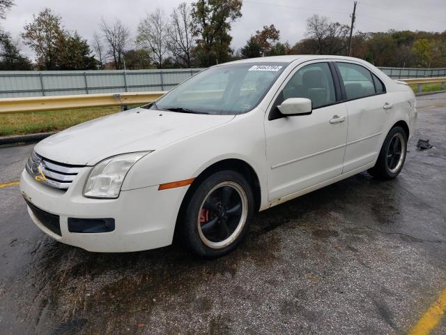
[[[263,211],[218,260],[59,244],[31,223],[18,186],[0,188],[1,333],[408,332],[446,286],[445,102],[420,97],[397,179],[364,172]],[[420,138],[434,147],[418,151]],[[0,184],[32,147],[0,149]],[[432,334],[446,334],[444,318]]]

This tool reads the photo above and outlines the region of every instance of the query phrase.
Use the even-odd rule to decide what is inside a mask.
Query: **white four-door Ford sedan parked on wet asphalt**
[[[410,87],[360,59],[233,61],[39,142],[20,189],[38,228],[63,243],[126,252],[175,235],[217,257],[256,211],[364,170],[397,177],[416,116]]]

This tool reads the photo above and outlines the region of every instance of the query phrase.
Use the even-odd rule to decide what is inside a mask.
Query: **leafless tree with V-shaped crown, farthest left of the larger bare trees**
[[[130,30],[121,20],[116,19],[113,24],[107,24],[104,18],[100,22],[100,30],[108,46],[108,54],[113,57],[115,68],[123,68],[125,49],[130,40]]]

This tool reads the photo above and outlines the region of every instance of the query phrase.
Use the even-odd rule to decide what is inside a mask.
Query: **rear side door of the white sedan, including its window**
[[[343,173],[374,162],[380,139],[392,112],[385,86],[364,66],[337,61],[341,89],[348,112],[348,136]]]

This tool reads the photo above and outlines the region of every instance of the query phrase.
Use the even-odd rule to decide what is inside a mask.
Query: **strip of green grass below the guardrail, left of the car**
[[[120,107],[93,107],[76,110],[0,114],[0,136],[47,133],[116,113]]]

